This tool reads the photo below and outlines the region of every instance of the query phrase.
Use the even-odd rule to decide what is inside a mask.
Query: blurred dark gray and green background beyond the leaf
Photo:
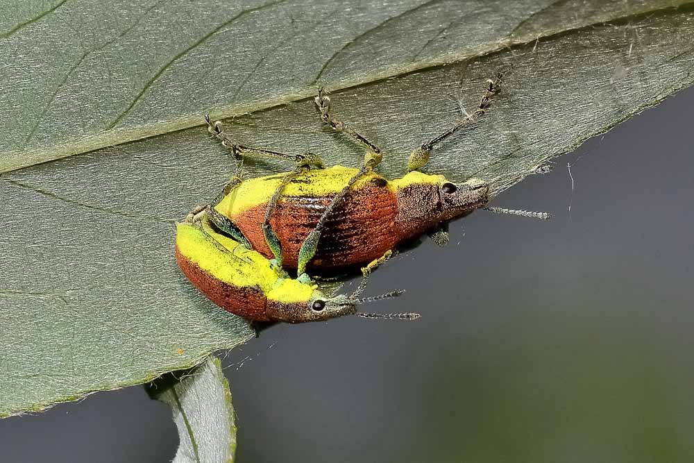
[[[228,353],[237,462],[693,461],[693,120],[690,89],[494,203],[552,221],[475,212],[380,268],[369,294],[407,294],[369,310],[418,321]],[[95,394],[0,420],[2,460],[167,462],[170,415],[142,387]]]

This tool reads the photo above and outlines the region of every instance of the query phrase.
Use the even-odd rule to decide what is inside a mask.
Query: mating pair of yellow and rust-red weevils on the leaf
[[[408,172],[387,180],[374,169],[381,149],[337,119],[322,90],[315,98],[321,119],[366,148],[360,169],[326,168],[314,153],[288,155],[235,144],[221,128],[208,131],[235,155],[236,174],[210,205],[196,208],[178,224],[176,258],[183,273],[214,303],[259,321],[317,321],[356,314],[369,318],[416,319],[418,314],[364,314],[366,301],[398,296],[396,291],[362,298],[373,269],[405,239],[432,233],[445,244],[445,225],[489,201],[489,185],[470,179],[455,185],[441,175],[418,171],[434,145],[484,115],[500,90],[501,74],[489,80],[475,111],[448,131],[421,144],[409,158]],[[294,162],[284,174],[242,180],[244,156],[270,156]],[[546,219],[547,214],[488,208],[495,212]],[[269,260],[271,259],[271,260]],[[362,283],[350,296],[328,297],[308,276],[362,267]],[[291,278],[285,269],[296,269]]]

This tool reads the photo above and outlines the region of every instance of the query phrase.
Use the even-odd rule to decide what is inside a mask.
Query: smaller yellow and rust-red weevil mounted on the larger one
[[[321,321],[344,315],[364,318],[414,320],[416,313],[371,314],[359,305],[399,296],[394,291],[362,297],[371,271],[390,253],[362,269],[362,282],[346,296],[328,296],[310,280],[287,278],[268,259],[211,224],[207,210],[194,211],[176,226],[176,261],[185,276],[219,307],[254,321]]]

